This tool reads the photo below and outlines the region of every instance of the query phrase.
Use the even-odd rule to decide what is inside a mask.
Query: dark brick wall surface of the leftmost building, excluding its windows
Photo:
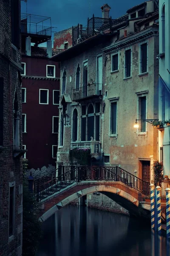
[[[18,8],[20,10],[20,0]],[[20,113],[22,111],[21,86],[17,68],[17,65],[21,66],[21,53],[20,50],[11,45],[10,1],[0,0],[0,35],[0,77],[4,78],[3,150],[0,149],[0,255],[9,256],[21,255],[22,253],[23,222],[22,157],[14,158],[13,151],[15,92],[17,93]],[[9,58],[15,64],[12,64]],[[20,116],[20,146],[22,147],[21,122]],[[9,183],[11,182],[15,182],[14,239],[8,242]]]

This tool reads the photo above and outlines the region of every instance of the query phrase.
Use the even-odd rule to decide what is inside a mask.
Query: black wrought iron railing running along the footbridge
[[[149,182],[139,179],[118,166],[61,166],[34,180],[34,195],[37,196],[37,201],[41,201],[73,183],[85,180],[120,181],[144,195],[149,195]]]

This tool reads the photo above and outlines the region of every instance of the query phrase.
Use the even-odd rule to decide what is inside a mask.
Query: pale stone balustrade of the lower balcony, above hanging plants
[[[71,148],[90,148],[91,154],[100,154],[100,145],[100,142],[96,140],[71,142]]]

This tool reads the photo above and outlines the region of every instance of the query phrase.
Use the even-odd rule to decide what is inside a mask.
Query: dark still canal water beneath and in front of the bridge
[[[42,224],[36,256],[170,256],[144,222],[112,212],[63,207]]]

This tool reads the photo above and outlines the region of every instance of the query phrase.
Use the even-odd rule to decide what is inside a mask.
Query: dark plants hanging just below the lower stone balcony
[[[77,159],[80,164],[88,165],[91,160],[90,148],[71,148],[69,151],[69,159],[71,162]]]

